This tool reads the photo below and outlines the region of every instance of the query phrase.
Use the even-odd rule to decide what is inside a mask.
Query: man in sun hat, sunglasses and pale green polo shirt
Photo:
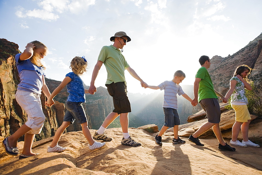
[[[121,144],[128,146],[141,146],[139,142],[130,137],[128,132],[128,113],[131,112],[131,106],[127,97],[127,83],[124,74],[125,69],[130,73],[130,75],[140,81],[142,87],[143,84],[144,86],[147,84],[128,65],[125,57],[122,55],[123,47],[127,42],[131,41],[130,37],[127,36],[125,32],[119,31],[110,38],[110,41],[113,41],[114,44],[103,46],[100,51],[97,63],[93,70],[89,93],[94,94],[96,92],[95,80],[104,63],[107,71],[106,87],[110,96],[113,97],[114,110],[108,114],[99,130],[95,132],[93,138],[96,140],[111,141],[112,138],[108,137],[104,131],[107,126],[110,125],[118,115],[120,115],[120,124],[123,131]]]

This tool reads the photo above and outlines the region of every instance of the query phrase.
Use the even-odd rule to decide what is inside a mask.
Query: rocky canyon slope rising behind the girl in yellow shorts
[[[262,33],[248,45],[234,53],[223,58],[221,56],[213,56],[211,66],[208,69],[210,77],[213,81],[214,88],[225,95],[229,89],[229,80],[233,77],[237,66],[242,64],[248,65],[255,69],[251,72],[249,79],[254,81],[254,85],[261,93],[262,87]]]

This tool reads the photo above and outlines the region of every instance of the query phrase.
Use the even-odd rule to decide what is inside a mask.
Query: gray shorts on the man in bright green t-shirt
[[[206,118],[209,123],[219,123],[220,122],[220,105],[216,98],[205,98],[200,100],[200,106],[206,112]]]

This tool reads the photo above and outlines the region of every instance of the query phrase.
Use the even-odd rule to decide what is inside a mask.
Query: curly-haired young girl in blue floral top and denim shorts
[[[83,81],[79,77],[79,75],[83,75],[83,73],[86,72],[87,61],[85,57],[74,57],[70,63],[70,68],[72,68],[73,72],[69,72],[67,75],[65,75],[64,80],[53,91],[53,93],[47,100],[47,105],[53,105],[53,98],[65,86],[67,86],[67,91],[69,93],[67,102],[65,102],[65,108],[67,109],[67,111],[65,112],[62,125],[57,129],[51,145],[47,148],[47,152],[62,152],[67,149],[66,147],[59,146],[57,143],[60,137],[62,136],[64,130],[70,124],[73,124],[75,120],[77,120],[77,122],[81,124],[83,134],[89,142],[90,150],[101,148],[106,144],[105,142],[101,143],[93,140],[91,133],[88,129],[87,118],[82,105],[82,103],[85,103],[85,93],[89,93],[89,90],[84,88]]]

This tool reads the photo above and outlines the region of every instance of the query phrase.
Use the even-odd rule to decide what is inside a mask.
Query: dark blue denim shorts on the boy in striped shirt
[[[163,108],[165,114],[165,124],[167,127],[174,127],[174,125],[180,125],[179,115],[176,109]]]

